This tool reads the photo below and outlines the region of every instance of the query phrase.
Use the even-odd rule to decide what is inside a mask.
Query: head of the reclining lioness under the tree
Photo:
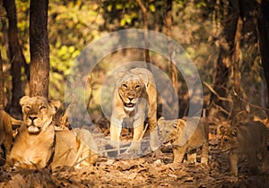
[[[20,100],[23,122],[29,133],[38,134],[52,123],[52,116],[59,107],[58,101],[48,103],[47,98],[24,96]]]

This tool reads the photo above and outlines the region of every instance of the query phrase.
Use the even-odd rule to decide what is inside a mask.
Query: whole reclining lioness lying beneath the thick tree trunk
[[[96,161],[97,156],[91,156],[91,149],[85,145],[90,145],[86,141],[93,141],[91,132],[77,130],[76,136],[73,131],[55,131],[52,117],[59,102],[48,102],[43,97],[24,96],[20,104],[23,124],[11,150],[10,166],[36,169],[50,164],[53,167],[73,166],[82,158],[91,157],[91,163]],[[88,140],[83,140],[84,137]],[[95,147],[93,150],[97,150],[96,144],[91,143],[91,146]]]

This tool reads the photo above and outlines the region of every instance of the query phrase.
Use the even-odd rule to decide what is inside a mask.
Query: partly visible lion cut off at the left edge
[[[4,165],[4,160],[8,160],[10,151],[13,145],[13,130],[12,130],[12,119],[4,110],[0,110],[0,150],[3,146],[4,158],[0,156],[0,165]]]

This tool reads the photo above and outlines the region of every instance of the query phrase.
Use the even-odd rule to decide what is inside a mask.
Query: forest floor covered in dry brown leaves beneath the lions
[[[48,169],[1,172],[0,187],[269,187],[269,172],[249,175],[244,159],[239,163],[239,176],[230,175],[228,153],[214,146],[208,166],[173,164],[170,148],[161,151],[162,158],[100,157],[94,167],[66,167],[54,173]]]

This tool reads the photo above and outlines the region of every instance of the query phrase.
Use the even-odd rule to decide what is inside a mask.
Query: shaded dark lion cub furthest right
[[[266,127],[263,123],[251,121],[235,126],[223,126],[218,128],[221,150],[230,150],[230,173],[238,175],[238,160],[243,154],[247,160],[251,173],[258,172],[261,162],[261,170],[266,168]],[[259,162],[258,162],[259,161]]]

